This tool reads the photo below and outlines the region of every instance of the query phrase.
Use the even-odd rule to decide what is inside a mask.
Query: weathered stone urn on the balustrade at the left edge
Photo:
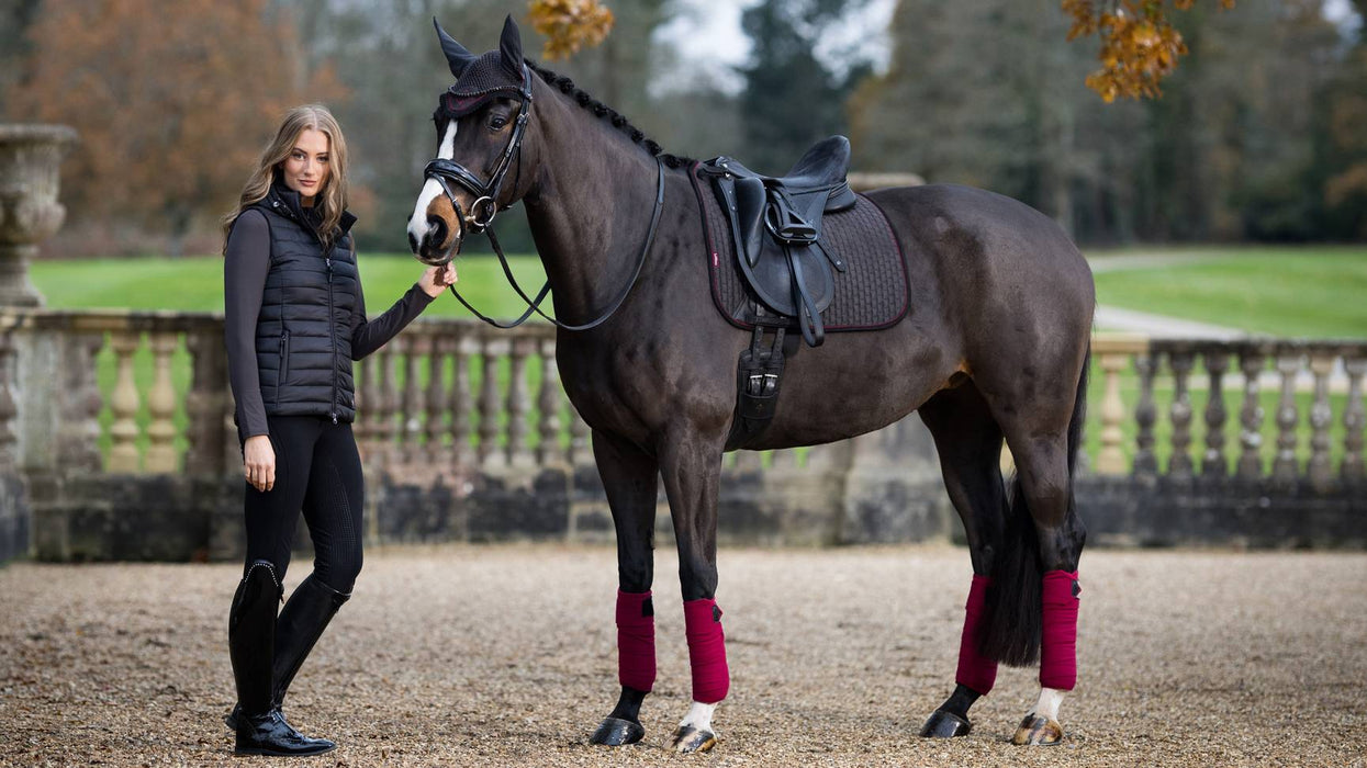
[[[75,143],[66,126],[0,124],[0,306],[42,306],[29,261],[66,219],[59,169]]]

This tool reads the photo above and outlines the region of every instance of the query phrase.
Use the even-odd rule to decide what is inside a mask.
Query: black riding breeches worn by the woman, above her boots
[[[276,566],[283,581],[299,511],[313,538],[313,575],[336,592],[350,593],[361,573],[361,510],[365,485],[350,424],[314,415],[272,415],[275,486],[247,484],[246,567],[257,560]]]

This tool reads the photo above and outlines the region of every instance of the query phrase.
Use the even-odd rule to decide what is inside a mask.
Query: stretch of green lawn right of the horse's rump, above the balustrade
[[[1173,260],[1106,269],[1114,256]],[[1367,338],[1367,247],[1210,247],[1089,253],[1102,305],[1271,336]]]

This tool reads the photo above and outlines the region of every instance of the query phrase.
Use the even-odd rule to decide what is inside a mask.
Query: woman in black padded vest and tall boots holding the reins
[[[228,614],[238,707],[226,720],[239,754],[319,754],[336,746],[295,731],[280,704],[361,570],[365,504],[351,436],[351,362],[392,339],[455,282],[452,266],[429,268],[368,321],[346,172],[336,120],[324,107],[298,107],[224,217],[224,333],[247,481],[246,567]],[[276,616],[301,510],[313,573]]]

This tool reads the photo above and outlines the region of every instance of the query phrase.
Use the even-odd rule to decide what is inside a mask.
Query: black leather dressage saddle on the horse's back
[[[857,202],[845,175],[850,142],[830,137],[802,154],[786,176],[766,176],[731,157],[699,165],[730,220],[735,256],[755,295],[772,312],[797,320],[809,346],[826,338],[822,312],[835,297],[846,265],[822,241],[822,215]]]

